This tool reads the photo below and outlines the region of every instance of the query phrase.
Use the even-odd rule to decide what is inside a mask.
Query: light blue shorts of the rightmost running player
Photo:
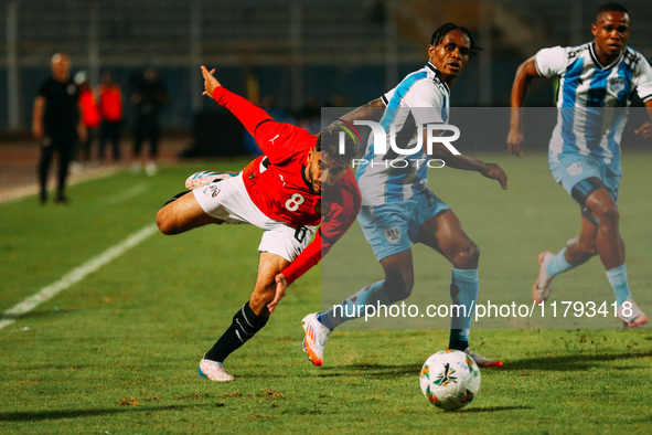
[[[573,188],[587,178],[599,178],[607,191],[618,202],[618,189],[622,172],[616,172],[602,160],[592,156],[582,155],[553,155],[549,153],[548,165],[555,181],[573,195]],[[582,204],[584,205],[584,204]]]

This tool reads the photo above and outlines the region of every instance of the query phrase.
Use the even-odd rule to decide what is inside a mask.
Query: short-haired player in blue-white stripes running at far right
[[[555,276],[599,255],[616,294],[618,317],[626,328],[648,322],[633,301],[624,263],[624,244],[618,229],[620,139],[634,93],[652,118],[652,68],[627,46],[629,13],[618,3],[598,10],[594,41],[573,47],[543,49],[517,70],[512,87],[512,117],[507,136],[511,153],[521,157],[521,110],[532,77],[559,77],[557,125],[549,142],[548,161],[554,179],[580,204],[579,235],[557,254],[538,255],[539,275],[532,290],[537,304],[551,295]],[[646,121],[637,131],[652,137]]]

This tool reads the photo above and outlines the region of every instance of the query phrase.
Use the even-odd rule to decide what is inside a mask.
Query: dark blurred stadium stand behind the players
[[[592,40],[605,0],[1,0],[0,132],[29,132],[50,59],[66,52],[92,86],[110,72],[125,119],[135,77],[156,68],[170,103],[163,131],[190,132],[211,108],[199,66],[279,120],[310,125],[322,106],[357,106],[423,66],[432,31],[452,21],[483,47],[453,89],[453,106],[509,105],[514,73],[538,49]],[[650,0],[627,0],[629,45],[652,56]],[[551,106],[535,84],[531,106]]]

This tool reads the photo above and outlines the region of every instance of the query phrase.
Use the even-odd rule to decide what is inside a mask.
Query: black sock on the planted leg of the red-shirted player
[[[233,316],[233,322],[228,329],[220,337],[220,340],[217,340],[213,348],[206,352],[204,358],[223,362],[226,357],[263,329],[267,320],[269,320],[269,317],[256,316],[247,301]]]

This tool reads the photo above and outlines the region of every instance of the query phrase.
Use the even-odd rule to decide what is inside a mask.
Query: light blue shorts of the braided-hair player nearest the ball
[[[357,221],[380,262],[410,248],[428,219],[450,209],[429,189],[408,201],[363,205]]]

